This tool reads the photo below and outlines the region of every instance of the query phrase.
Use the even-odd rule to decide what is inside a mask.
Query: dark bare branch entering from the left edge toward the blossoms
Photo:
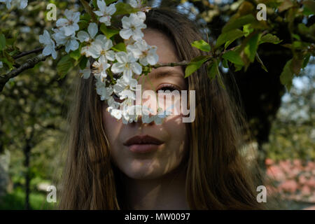
[[[64,47],[59,46],[55,50],[60,50],[62,48]],[[6,85],[6,83],[8,82],[8,80],[10,80],[10,78],[14,78],[15,76],[18,76],[18,74],[22,73],[23,71],[33,68],[36,64],[38,64],[39,62],[45,61],[45,59],[50,56],[51,55],[44,56],[41,54],[34,58],[27,59],[27,62],[19,66],[17,69],[14,69],[13,71],[10,71],[9,73],[6,73],[4,75],[0,75],[0,92],[3,90],[4,85]]]

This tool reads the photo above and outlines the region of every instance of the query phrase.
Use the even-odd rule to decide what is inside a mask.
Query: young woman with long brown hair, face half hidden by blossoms
[[[202,54],[190,43],[202,36],[183,15],[153,9],[144,39],[158,47],[160,63]],[[206,66],[184,78],[184,67],[153,69],[143,90],[195,90],[195,120],[182,115],[162,125],[124,125],[106,111],[94,79],[80,78],[70,111],[69,152],[60,209],[263,209],[258,183],[239,154],[239,115]],[[151,144],[137,146],[139,142]],[[152,146],[154,144],[154,146]],[[140,150],[139,150],[140,148]],[[142,148],[143,149],[143,148]]]

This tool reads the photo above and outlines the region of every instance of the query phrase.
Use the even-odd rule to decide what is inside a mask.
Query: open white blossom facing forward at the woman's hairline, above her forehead
[[[119,31],[120,36],[125,40],[129,39],[130,36],[132,36],[135,41],[143,38],[144,33],[141,31],[141,29],[146,28],[146,25],[144,24],[144,18],[145,14],[142,13],[131,13],[129,17],[124,16],[121,20],[123,23],[123,29]]]

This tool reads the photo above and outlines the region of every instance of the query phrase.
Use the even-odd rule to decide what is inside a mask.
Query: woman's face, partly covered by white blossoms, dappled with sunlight
[[[158,47],[159,63],[179,61],[174,44],[160,31],[145,29],[144,40],[148,45]],[[181,92],[187,90],[183,77],[181,66],[166,66],[153,69],[148,78],[141,76],[138,83],[141,84],[142,92],[144,90]],[[146,100],[156,99],[143,99],[142,103],[144,104]],[[188,148],[187,123],[182,122],[181,115],[168,116],[162,125],[155,125],[154,122],[142,123],[141,118],[137,123],[124,125],[122,120],[113,118],[104,106],[102,116],[113,162],[125,175],[132,179],[156,179],[181,165]],[[130,140],[133,137],[136,137],[135,141]],[[150,140],[150,137],[156,140]],[[153,145],[145,146],[144,142],[141,142],[142,146],[139,145],[137,141],[141,141],[139,140],[141,138],[153,141]]]

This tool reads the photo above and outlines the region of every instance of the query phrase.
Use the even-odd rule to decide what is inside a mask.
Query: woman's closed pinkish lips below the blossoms
[[[150,135],[137,135],[125,141],[124,146],[127,146],[133,153],[150,153],[158,150],[161,144],[163,144],[163,141],[151,137]]]

